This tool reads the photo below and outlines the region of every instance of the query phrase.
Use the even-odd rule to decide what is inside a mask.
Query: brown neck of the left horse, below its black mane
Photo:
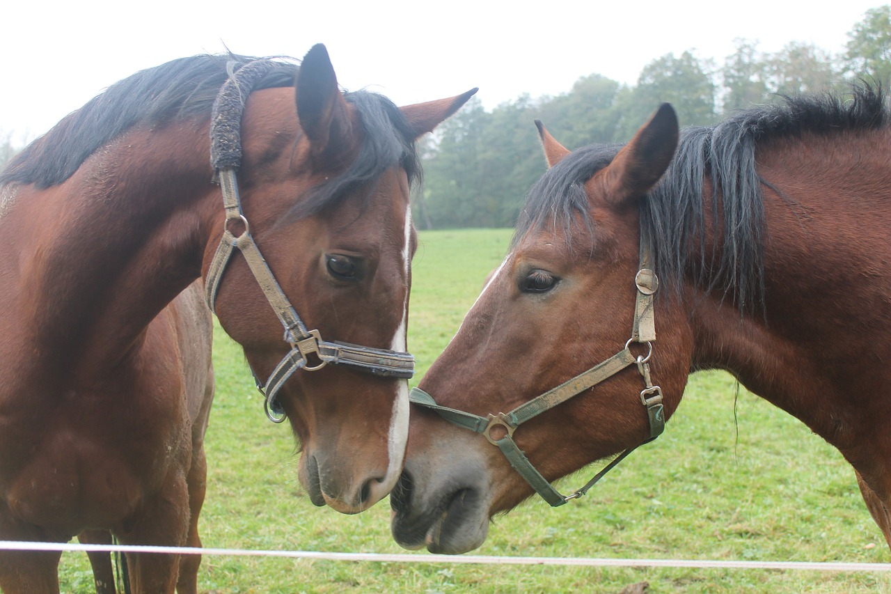
[[[218,193],[207,136],[197,123],[135,129],[61,185],[18,188],[0,219],[22,262],[0,272],[21,297],[6,327],[29,336],[41,367],[89,376],[117,365],[200,275]]]

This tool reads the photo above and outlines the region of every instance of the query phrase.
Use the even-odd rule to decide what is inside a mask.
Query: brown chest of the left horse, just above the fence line
[[[133,516],[191,455],[187,424],[147,426],[142,408],[157,402],[140,404],[110,405],[72,391],[40,417],[0,421],[12,429],[0,433],[0,494],[13,516],[69,535]],[[184,409],[163,412],[185,416]]]

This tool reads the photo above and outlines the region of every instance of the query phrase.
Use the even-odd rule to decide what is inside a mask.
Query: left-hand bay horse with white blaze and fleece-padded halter
[[[356,513],[390,491],[414,142],[474,91],[400,109],[341,93],[323,45],[299,67],[195,56],[20,153],[0,175],[0,540],[200,546],[208,304],[290,421],[313,502]],[[0,552],[0,589],[58,592],[59,559]],[[142,592],[196,591],[199,563],[127,555]]]

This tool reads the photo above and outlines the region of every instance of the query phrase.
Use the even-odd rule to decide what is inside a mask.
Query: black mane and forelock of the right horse
[[[654,246],[658,275],[678,282],[688,267],[691,248],[704,241],[704,178],[720,196],[723,230],[718,253],[695,262],[695,274],[709,288],[720,287],[740,309],[752,309],[764,297],[764,203],[767,183],[756,170],[756,148],[772,139],[804,133],[835,134],[887,126],[881,87],[855,85],[853,100],[836,94],[784,96],[781,103],[741,111],[714,128],[683,130],[677,154],[665,176],[642,201],[642,233]],[[549,169],[527,194],[514,242],[532,227],[560,226],[567,237],[580,215],[593,227],[584,183],[612,161],[620,145],[592,145],[570,153]],[[713,208],[713,212],[717,209]],[[709,279],[708,281],[706,279]]]

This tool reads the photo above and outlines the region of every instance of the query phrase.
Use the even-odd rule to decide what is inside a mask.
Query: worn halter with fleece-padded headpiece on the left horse
[[[225,223],[223,237],[210,262],[205,281],[205,299],[210,310],[214,311],[217,290],[223,280],[226,265],[235,250],[238,250],[266,295],[266,301],[269,301],[284,326],[284,341],[290,344],[290,351],[275,367],[266,384],[261,384],[254,374],[257,389],[266,396],[266,417],[274,423],[282,423],[285,419],[284,410],[275,396],[298,369],[318,371],[328,363],[334,363],[382,377],[409,378],[414,375],[414,358],[410,353],[347,342],[325,342],[318,330],[307,329],[250,235],[248,219],[241,211],[238,181],[235,177],[235,171],[241,164],[241,113],[250,90],[269,70],[278,66],[280,64],[268,60],[257,60],[242,66],[226,80],[214,102],[210,127],[210,157],[223,190]],[[233,233],[234,227],[241,227],[240,235]],[[253,374],[253,370],[251,373]]]

